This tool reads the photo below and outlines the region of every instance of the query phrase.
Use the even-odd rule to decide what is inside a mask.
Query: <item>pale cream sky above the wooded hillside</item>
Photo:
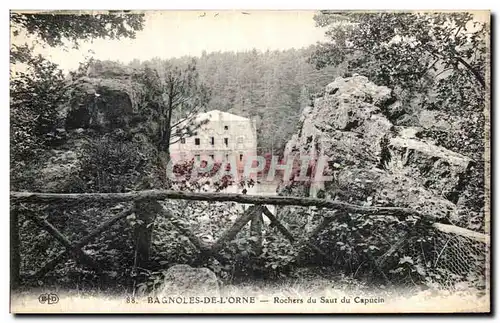
[[[200,56],[203,51],[261,51],[301,48],[324,39],[315,26],[314,11],[149,11],[135,39],[82,43],[79,50],[45,48],[64,70],[75,69],[85,57],[130,62],[153,57]],[[13,42],[24,39],[14,39]],[[92,50],[93,53],[89,52]]]

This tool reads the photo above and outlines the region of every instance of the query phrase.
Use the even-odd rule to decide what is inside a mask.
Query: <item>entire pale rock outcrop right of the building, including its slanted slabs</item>
[[[410,207],[436,218],[453,217],[452,196],[471,161],[419,139],[423,127],[394,126],[391,120],[399,111],[401,105],[392,91],[364,76],[337,78],[328,84],[313,107],[303,110],[300,130],[285,149],[287,158],[328,157],[325,174],[334,179],[313,182],[306,192],[362,205]],[[280,189],[286,192],[288,187]]]

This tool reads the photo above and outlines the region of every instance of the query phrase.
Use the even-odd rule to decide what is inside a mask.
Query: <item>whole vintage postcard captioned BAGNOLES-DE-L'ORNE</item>
[[[11,11],[12,313],[489,313],[489,11]]]

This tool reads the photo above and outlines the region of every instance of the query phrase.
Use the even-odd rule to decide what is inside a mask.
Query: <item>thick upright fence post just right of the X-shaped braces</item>
[[[151,236],[153,233],[153,223],[156,218],[156,201],[135,202],[135,216],[137,226],[135,228],[135,265],[140,268],[147,268],[150,256]]]

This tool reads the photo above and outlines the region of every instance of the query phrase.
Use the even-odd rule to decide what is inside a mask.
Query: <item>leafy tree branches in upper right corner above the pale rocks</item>
[[[445,71],[465,72],[484,90],[487,25],[473,18],[465,12],[321,12],[314,19],[330,41],[311,61],[318,68],[347,61],[350,71],[409,92],[429,88]]]

